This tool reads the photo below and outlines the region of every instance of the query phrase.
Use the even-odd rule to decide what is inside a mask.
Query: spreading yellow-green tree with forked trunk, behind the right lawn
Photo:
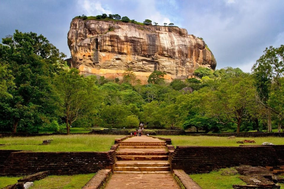
[[[254,103],[254,95],[253,78],[249,74],[222,80],[217,90],[208,93],[208,117],[217,118],[223,125],[235,123],[239,133],[241,121],[248,115],[247,108]]]

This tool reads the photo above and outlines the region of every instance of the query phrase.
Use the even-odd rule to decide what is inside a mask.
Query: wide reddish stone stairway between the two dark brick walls
[[[165,141],[142,135],[120,142],[114,173],[169,173]]]

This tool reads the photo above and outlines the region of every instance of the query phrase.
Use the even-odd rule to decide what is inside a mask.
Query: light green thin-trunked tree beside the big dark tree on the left
[[[59,97],[57,103],[69,134],[73,122],[95,111],[99,100],[98,88],[93,80],[79,75],[79,70],[75,68],[62,71],[56,76],[54,88]]]

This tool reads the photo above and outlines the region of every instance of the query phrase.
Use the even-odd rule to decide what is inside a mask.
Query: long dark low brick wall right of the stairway
[[[275,150],[275,148],[278,149]],[[186,173],[206,173],[214,169],[241,164],[279,169],[283,165],[281,147],[272,146],[177,146],[169,157],[171,169],[183,169]],[[282,172],[283,170],[279,170]]]

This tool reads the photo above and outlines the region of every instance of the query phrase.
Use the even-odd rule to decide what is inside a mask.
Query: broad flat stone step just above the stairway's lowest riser
[[[170,167],[169,161],[117,161],[115,167]]]

